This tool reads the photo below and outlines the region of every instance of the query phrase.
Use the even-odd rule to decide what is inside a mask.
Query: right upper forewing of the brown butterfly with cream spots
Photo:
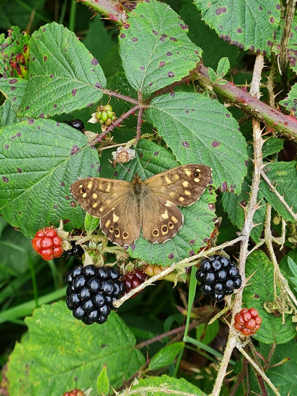
[[[149,177],[144,189],[179,206],[196,202],[211,182],[211,168],[207,165],[181,165]]]

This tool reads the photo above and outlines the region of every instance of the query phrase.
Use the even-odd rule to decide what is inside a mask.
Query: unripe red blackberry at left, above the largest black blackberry
[[[51,227],[36,232],[32,239],[32,247],[46,261],[61,257],[63,253],[62,240]]]

